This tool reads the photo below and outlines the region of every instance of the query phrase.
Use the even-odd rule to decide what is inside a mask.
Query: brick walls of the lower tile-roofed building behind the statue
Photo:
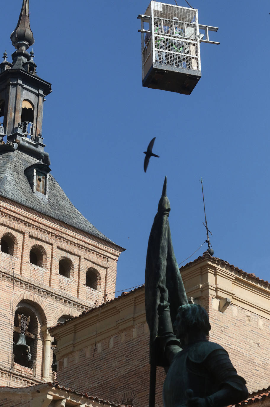
[[[202,282],[198,276],[202,267],[192,272],[187,269],[189,278],[197,275],[196,281]],[[206,271],[204,271],[206,273]],[[212,267],[209,266],[209,281]],[[183,273],[185,275],[185,273]],[[224,270],[224,276],[232,280],[231,273]],[[255,293],[253,309],[265,306],[265,316],[250,311],[250,306],[243,302],[238,304],[240,294],[234,291],[234,299],[224,312],[218,311],[217,304],[221,300],[215,292],[214,284],[199,284],[204,295],[195,298],[195,302],[204,306],[209,313],[212,329],[209,340],[221,344],[231,357],[238,374],[246,381],[250,392],[268,387],[270,383],[268,352],[270,342],[270,293],[269,289],[235,277],[237,284],[249,284]],[[185,281],[188,286],[188,281]],[[253,284],[253,285],[252,285]],[[198,289],[198,284],[195,284]],[[224,283],[227,292],[229,289]],[[225,290],[225,288],[223,289]],[[250,288],[250,289],[251,289]],[[192,293],[194,288],[187,289]],[[218,289],[222,289],[219,285]],[[193,291],[192,291],[193,290]],[[246,289],[247,291],[247,289]],[[259,304],[262,294],[263,304]],[[139,308],[140,306],[140,308]],[[248,309],[246,309],[246,308]],[[259,312],[259,311],[258,311]],[[260,311],[261,313],[261,311]],[[107,317],[106,317],[107,315]],[[81,392],[98,394],[115,403],[123,399],[125,392],[133,394],[134,407],[148,405],[149,364],[148,364],[148,326],[144,313],[144,287],[128,293],[107,304],[100,312],[96,350],[94,351],[95,330],[98,309],[89,311],[84,316],[66,322],[52,331],[60,339],[57,354],[57,380],[61,385],[73,386]],[[87,326],[88,338],[85,337]],[[73,335],[73,351],[68,341]],[[93,359],[94,357],[94,359]],[[165,374],[161,368],[157,370],[156,407],[162,407],[162,385]]]

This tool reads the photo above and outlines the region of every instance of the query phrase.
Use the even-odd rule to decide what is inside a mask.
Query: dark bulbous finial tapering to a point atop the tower
[[[35,40],[29,21],[29,0],[23,0],[22,2],[22,10],[17,26],[10,38],[12,45],[15,46],[17,50],[25,51],[34,44]]]

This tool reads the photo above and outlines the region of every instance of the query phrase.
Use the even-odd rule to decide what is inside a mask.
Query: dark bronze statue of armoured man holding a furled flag
[[[209,342],[205,309],[188,304],[173,252],[166,178],[148,242],[146,320],[150,329],[150,397],[155,406],[155,369],[163,366],[164,407],[222,407],[244,400],[246,381],[222,346]],[[174,329],[173,329],[174,328]]]

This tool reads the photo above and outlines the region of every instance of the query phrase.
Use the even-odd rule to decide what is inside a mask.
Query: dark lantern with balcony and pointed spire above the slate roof
[[[15,149],[31,151],[36,158],[50,164],[41,136],[44,98],[51,90],[50,83],[36,74],[33,50],[34,36],[29,22],[29,0],[23,0],[17,26],[11,34],[15,47],[12,63],[0,64],[0,143],[7,135],[7,143]]]

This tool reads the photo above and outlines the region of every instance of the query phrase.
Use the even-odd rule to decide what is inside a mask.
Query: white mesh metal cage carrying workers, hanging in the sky
[[[138,18],[143,86],[191,94],[201,77],[200,42],[219,44],[209,41],[208,36],[209,31],[218,28],[199,25],[197,9],[156,1],[151,1],[146,14]]]

